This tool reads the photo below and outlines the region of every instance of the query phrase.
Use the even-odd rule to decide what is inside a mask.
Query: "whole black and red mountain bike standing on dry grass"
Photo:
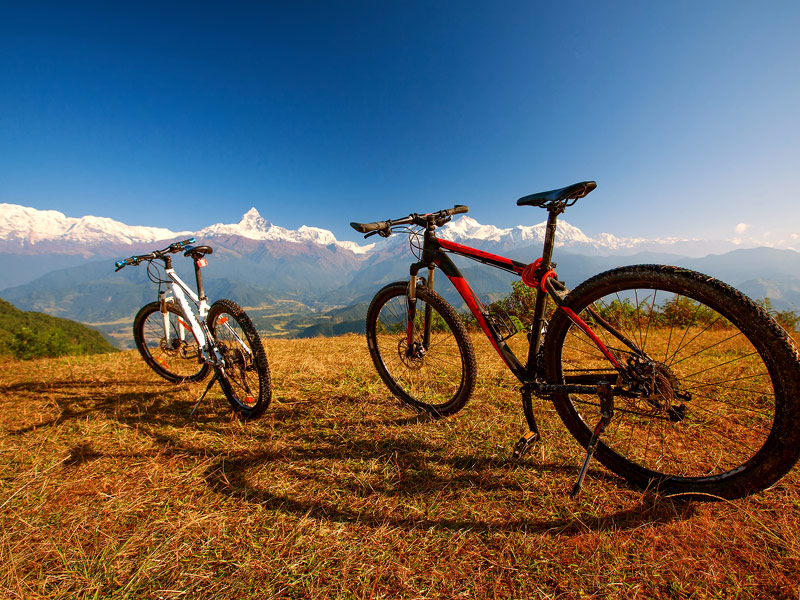
[[[679,267],[620,267],[567,290],[552,263],[558,215],[595,187],[582,182],[517,201],[548,211],[542,257],[531,264],[437,238],[436,228],[466,206],[351,223],[365,237],[408,231],[419,259],[408,281],[387,285],[369,306],[378,373],[401,401],[437,417],[472,394],[475,353],[462,318],[434,292],[438,267],[522,384],[530,431],[515,456],[539,439],[537,396],[553,402],[587,450],[573,493],[592,456],[666,494],[736,498],[772,485],[800,456],[793,342],[736,289]],[[525,363],[510,343],[519,318],[487,310],[450,254],[519,275],[536,290]],[[418,276],[423,269],[427,278]]]

